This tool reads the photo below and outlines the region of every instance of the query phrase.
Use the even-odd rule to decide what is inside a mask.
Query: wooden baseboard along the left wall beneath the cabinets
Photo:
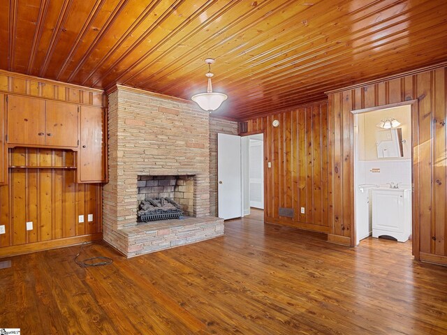
[[[29,244],[20,244],[18,246],[3,246],[3,248],[0,248],[0,258],[22,255],[24,253],[34,253],[36,251],[63,248],[64,246],[73,246],[75,244],[80,244],[83,241],[98,241],[101,239],[103,239],[103,233],[96,232],[95,234],[66,237],[64,239],[53,239],[51,241],[40,241]]]

